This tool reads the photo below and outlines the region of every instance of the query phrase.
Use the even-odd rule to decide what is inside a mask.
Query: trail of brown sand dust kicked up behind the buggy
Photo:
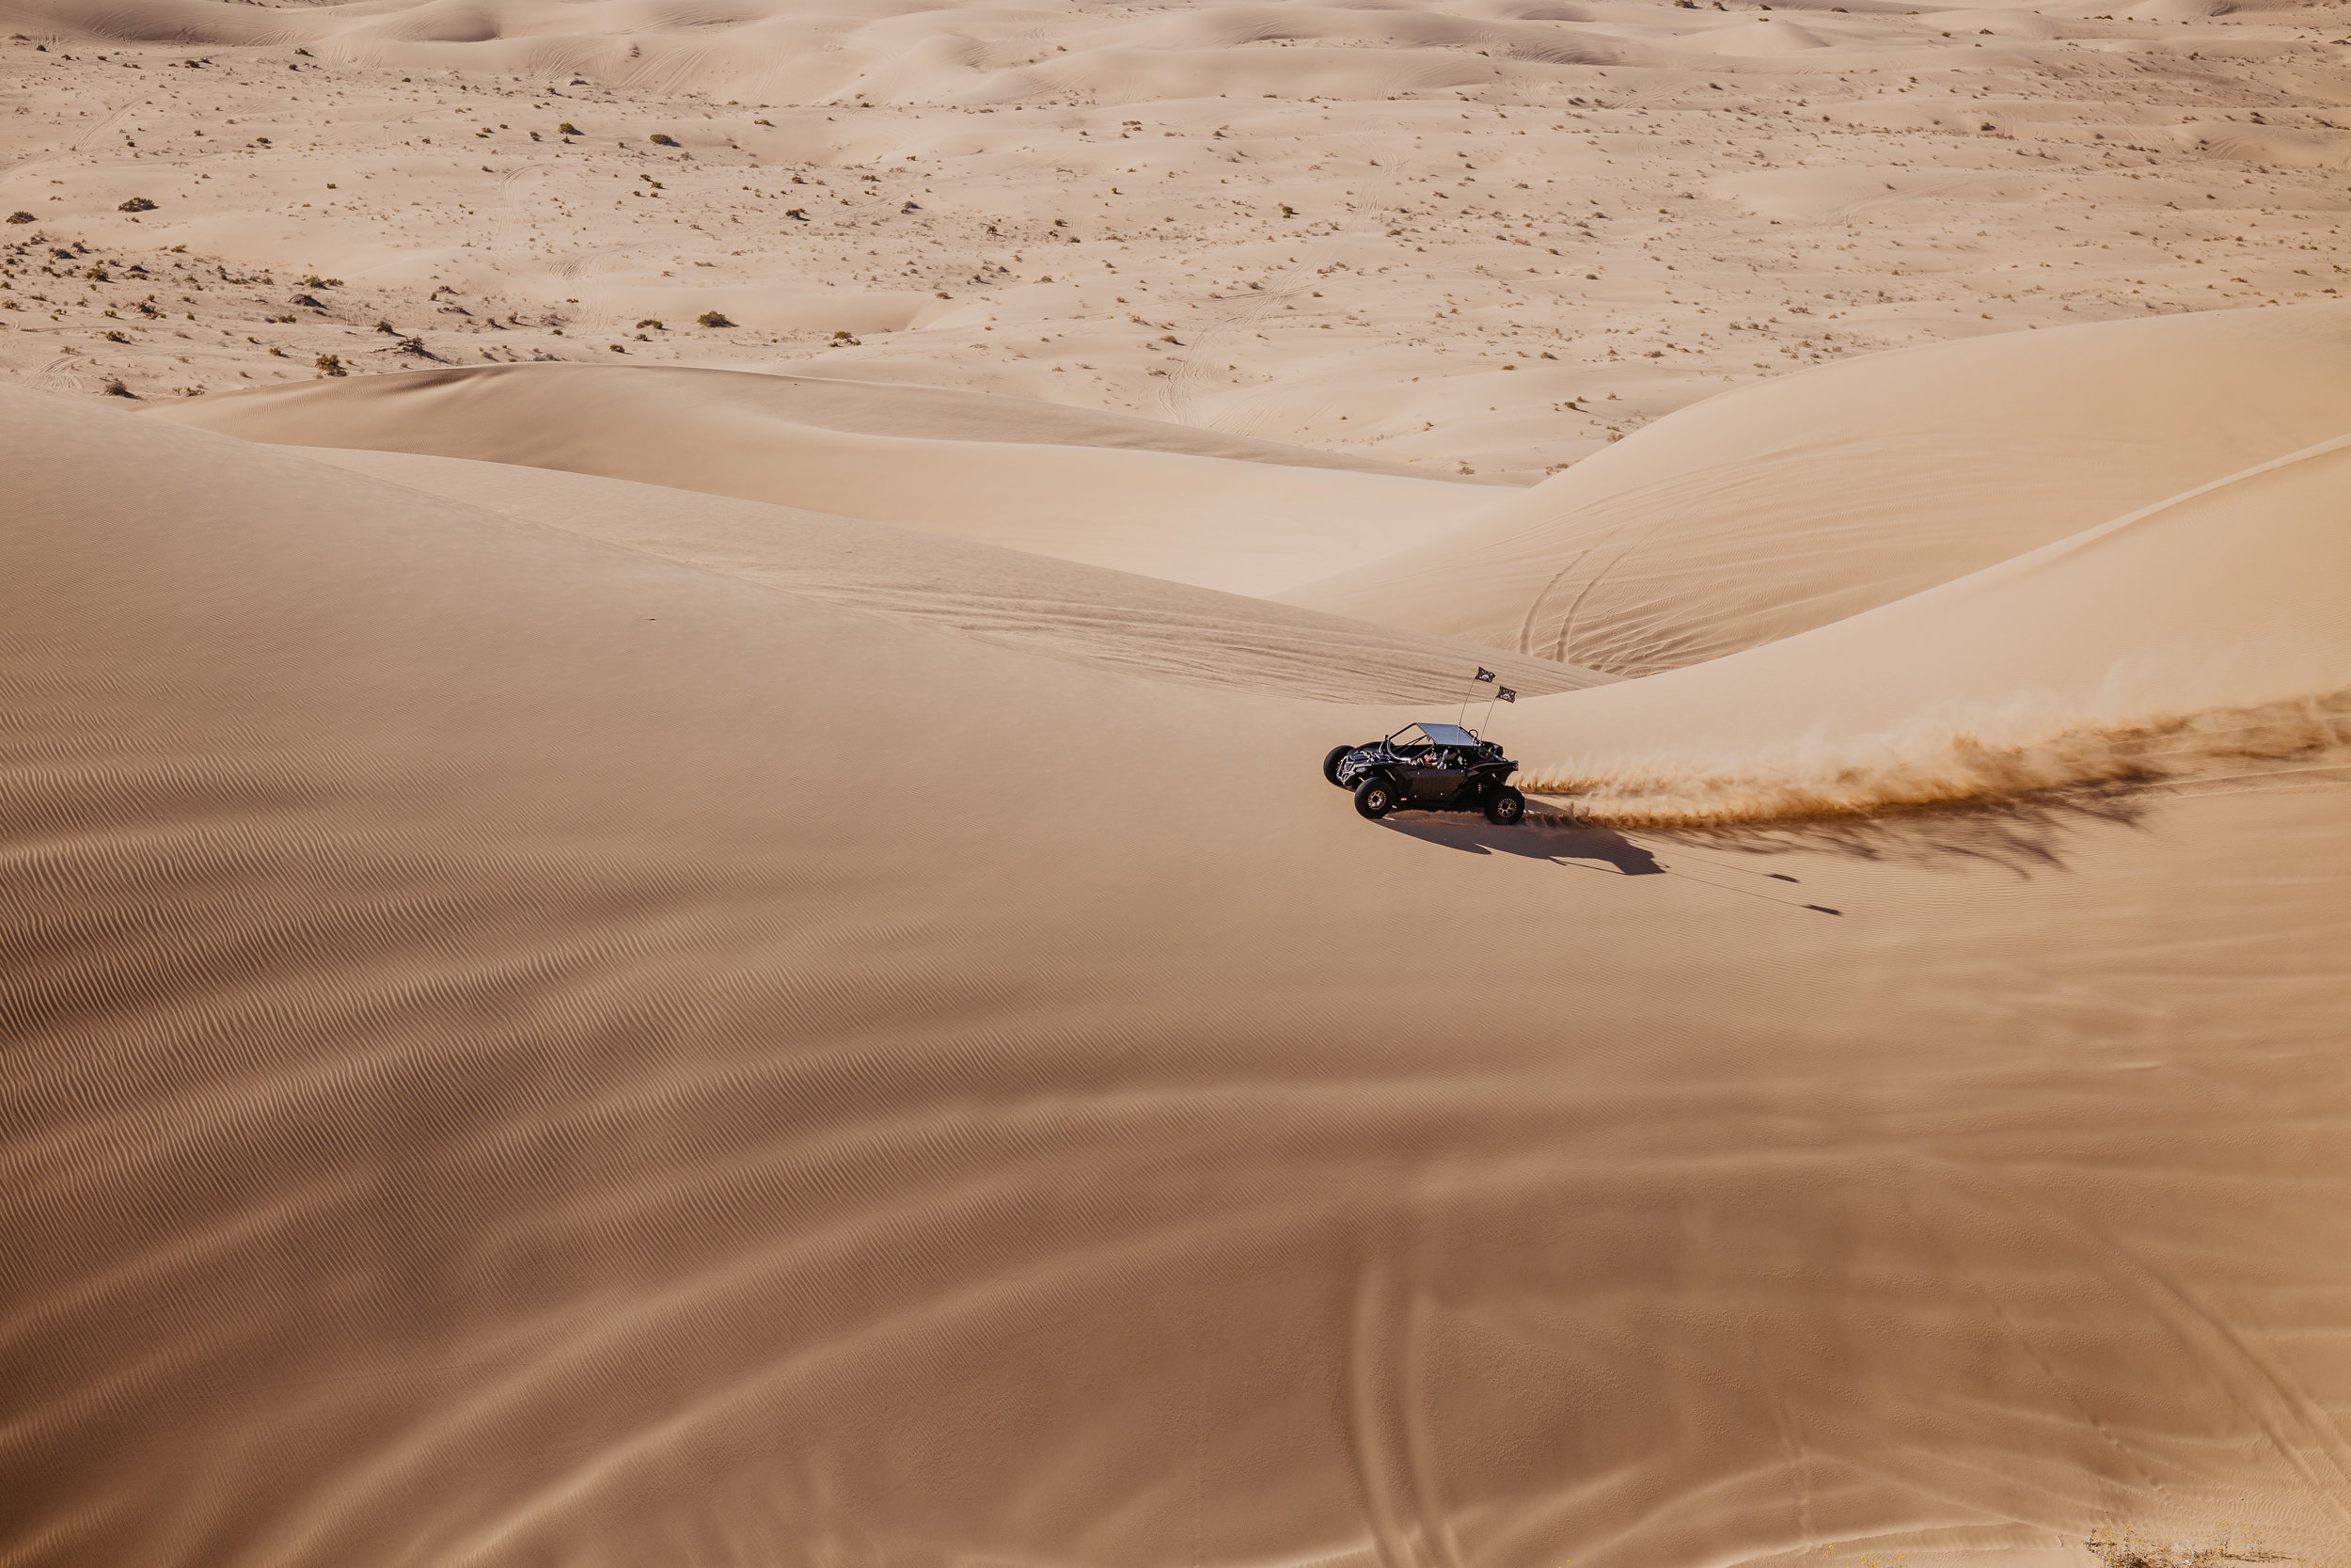
[[[1728,827],[2351,764],[2351,686],[2243,708],[2083,719],[2017,703],[1855,741],[1521,769],[1533,797],[1606,827]]]

